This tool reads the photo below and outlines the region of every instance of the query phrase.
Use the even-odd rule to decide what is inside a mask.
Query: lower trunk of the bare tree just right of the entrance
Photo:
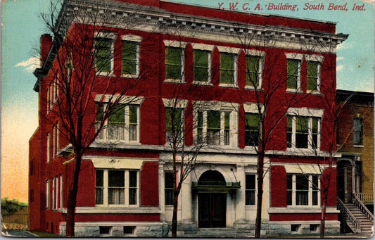
[[[258,169],[257,169],[257,179],[258,179],[258,194],[257,194],[257,215],[255,218],[255,238],[260,238],[260,229],[262,228],[262,198],[263,198],[263,173],[264,173],[264,153],[259,154],[258,158]]]

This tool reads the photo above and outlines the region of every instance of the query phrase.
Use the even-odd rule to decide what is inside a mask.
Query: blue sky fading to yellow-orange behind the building
[[[37,93],[32,90],[36,78],[33,56],[39,48],[39,37],[46,32],[39,14],[48,9],[50,0],[3,0],[1,9],[1,176],[13,172],[17,160],[17,171],[27,170],[27,141],[37,127]],[[241,10],[243,4],[255,8],[259,3],[264,9],[258,13],[288,15],[299,18],[327,20],[337,23],[338,33],[350,34],[338,46],[338,89],[374,91],[374,0],[170,0],[186,4],[227,8],[236,3]],[[297,4],[299,11],[267,11],[266,4]],[[324,10],[312,11],[305,4],[325,5]],[[347,4],[348,11],[329,11],[330,3]],[[364,4],[365,11],[352,11],[352,6]],[[20,164],[20,165],[18,165]],[[12,167],[13,165],[13,167]],[[27,176],[23,181],[27,181]],[[27,186],[27,184],[26,184]],[[27,191],[27,189],[25,190]],[[4,189],[2,190],[4,194]],[[6,191],[5,191],[6,192]],[[3,195],[4,196],[4,195]],[[23,198],[23,197],[20,197]]]

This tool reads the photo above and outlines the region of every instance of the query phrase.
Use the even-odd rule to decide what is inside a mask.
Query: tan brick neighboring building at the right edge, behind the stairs
[[[374,93],[337,90],[338,196],[358,194],[374,210]],[[354,172],[354,174],[353,174]]]

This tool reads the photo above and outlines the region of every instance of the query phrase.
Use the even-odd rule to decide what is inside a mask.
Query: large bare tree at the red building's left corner
[[[74,165],[72,184],[66,186],[66,236],[75,236],[82,156],[96,139],[124,138],[124,107],[139,100],[141,90],[136,87],[147,79],[148,69],[158,64],[155,60],[139,67],[139,39],[129,36],[115,42],[119,28],[135,24],[137,11],[113,18],[115,7],[107,1],[61,0],[51,1],[49,13],[41,14],[53,34],[48,56],[42,57],[42,68],[34,73],[47,89],[42,96],[47,108],[44,120],[58,131],[64,146],[61,155],[72,153],[64,156],[64,164]],[[118,43],[122,51],[115,48]],[[132,127],[127,131],[131,135]]]

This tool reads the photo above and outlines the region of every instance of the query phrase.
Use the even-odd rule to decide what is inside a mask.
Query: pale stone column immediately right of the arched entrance
[[[246,175],[245,167],[237,165],[236,172],[237,181],[241,182],[241,189],[236,194],[236,223],[245,222],[245,190],[246,190]]]

